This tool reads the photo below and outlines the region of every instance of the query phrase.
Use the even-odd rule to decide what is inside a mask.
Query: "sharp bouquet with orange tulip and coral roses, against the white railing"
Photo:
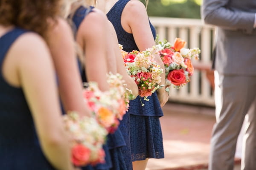
[[[176,38],[174,45],[167,40],[160,42],[157,40],[156,48],[159,51],[166,71],[166,86],[171,84],[175,88],[180,88],[190,81],[190,77],[194,72],[191,59],[199,59],[199,48],[184,48],[186,41]],[[169,88],[166,88],[169,91]]]

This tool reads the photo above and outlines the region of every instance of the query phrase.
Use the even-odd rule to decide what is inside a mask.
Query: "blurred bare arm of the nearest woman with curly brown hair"
[[[24,43],[25,42],[25,43]],[[20,37],[17,77],[35,122],[42,150],[58,170],[71,170],[70,144],[64,131],[56,79],[49,50],[38,35]]]

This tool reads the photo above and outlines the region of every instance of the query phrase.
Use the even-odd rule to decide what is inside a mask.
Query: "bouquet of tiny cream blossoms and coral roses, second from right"
[[[160,88],[163,69],[154,60],[155,47],[148,48],[145,51],[126,52],[122,50],[122,57],[125,62],[125,68],[128,74],[134,79],[139,88],[139,95],[148,101],[147,96],[151,96]]]

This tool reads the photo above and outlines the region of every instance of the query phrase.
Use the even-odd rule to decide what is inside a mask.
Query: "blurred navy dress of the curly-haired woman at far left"
[[[55,170],[42,153],[23,90],[2,73],[6,53],[25,32],[14,28],[0,37],[0,170]]]

